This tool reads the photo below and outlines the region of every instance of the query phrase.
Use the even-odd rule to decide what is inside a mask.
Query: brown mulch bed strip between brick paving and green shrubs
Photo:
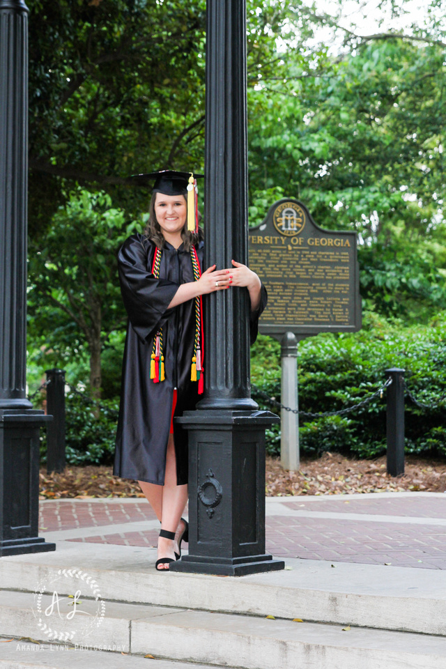
[[[391,477],[385,456],[355,460],[339,453],[324,453],[317,460],[302,459],[297,472],[267,458],[266,495],[351,495],[398,491],[446,491],[446,461],[406,457],[405,473]],[[40,499],[88,497],[144,497],[136,481],[112,475],[112,467],[66,466],[61,474],[40,468]]]

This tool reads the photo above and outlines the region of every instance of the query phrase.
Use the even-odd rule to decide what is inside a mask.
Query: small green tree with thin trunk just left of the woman
[[[101,353],[126,315],[117,281],[118,247],[137,229],[105,192],[78,190],[30,248],[29,335],[61,359],[89,354],[93,397],[102,386]]]

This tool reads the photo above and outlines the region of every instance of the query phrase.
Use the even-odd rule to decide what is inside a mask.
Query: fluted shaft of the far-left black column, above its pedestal
[[[31,407],[26,374],[28,9],[0,0],[0,408]]]

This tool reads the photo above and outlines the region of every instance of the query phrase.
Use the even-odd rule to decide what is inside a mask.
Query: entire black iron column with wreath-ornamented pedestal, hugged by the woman
[[[205,266],[247,263],[246,0],[208,0]],[[189,430],[189,554],[171,571],[243,576],[284,568],[265,553],[265,430],[250,397],[249,294],[206,296],[205,395]]]

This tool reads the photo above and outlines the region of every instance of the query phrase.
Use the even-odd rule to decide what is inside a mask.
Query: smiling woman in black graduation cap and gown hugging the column
[[[193,410],[203,391],[201,295],[242,287],[249,291],[251,343],[266,290],[241,263],[203,266],[203,233],[187,230],[190,173],[161,171],[155,178],[144,234],[118,253],[121,293],[129,323],[125,339],[114,475],[137,479],[161,522],[158,571],[181,555],[187,541],[187,431],[174,416]]]

